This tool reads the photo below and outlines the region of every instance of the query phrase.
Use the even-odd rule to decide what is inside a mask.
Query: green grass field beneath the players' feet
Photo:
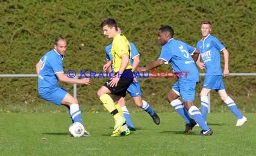
[[[73,138],[67,113],[0,113],[1,156],[252,156],[256,153],[256,114],[244,113],[247,123],[236,127],[232,113],[210,113],[212,136],[197,136],[199,127],[184,135],[185,123],[177,113],[159,113],[155,125],[144,112],[131,113],[136,131],[111,137],[109,113],[83,113],[92,137]]]

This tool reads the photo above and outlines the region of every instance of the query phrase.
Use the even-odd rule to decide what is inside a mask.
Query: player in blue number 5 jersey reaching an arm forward
[[[182,41],[173,39],[173,35],[174,30],[171,26],[162,26],[158,30],[158,40],[163,45],[159,59],[147,67],[138,68],[137,71],[151,70],[169,62],[178,81],[172,86],[167,99],[185,119],[186,129],[184,133],[189,133],[197,122],[202,128],[199,135],[212,135],[212,130],[205,124],[199,109],[194,106],[195,86],[199,82],[199,71],[194,61],[198,60],[199,51]],[[179,96],[181,96],[184,105],[178,100]],[[186,110],[196,122],[190,118]]]

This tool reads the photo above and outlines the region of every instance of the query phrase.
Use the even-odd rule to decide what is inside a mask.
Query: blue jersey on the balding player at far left
[[[38,78],[38,91],[44,92],[57,86],[58,78],[55,74],[64,73],[63,58],[54,49],[47,52],[41,59],[42,61],[39,78]]]

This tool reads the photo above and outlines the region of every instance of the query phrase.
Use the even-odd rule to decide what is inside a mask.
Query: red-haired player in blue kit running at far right
[[[240,113],[234,100],[227,95],[224,83],[222,81],[222,70],[221,70],[221,56],[220,52],[224,55],[224,70],[223,75],[229,75],[229,52],[221,44],[221,42],[214,36],[210,35],[212,30],[212,23],[210,21],[201,22],[201,33],[203,39],[200,39],[197,43],[197,49],[200,51],[200,56],[203,62],[197,61],[197,65],[200,69],[206,70],[206,75],[203,82],[203,89],[200,93],[201,97],[201,113],[203,119],[206,121],[207,109],[209,100],[207,95],[214,89],[219,93],[221,99],[228,105],[231,112],[238,118],[236,126],[242,126],[247,118]]]

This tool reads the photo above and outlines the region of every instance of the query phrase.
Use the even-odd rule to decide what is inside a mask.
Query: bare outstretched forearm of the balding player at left
[[[82,78],[82,79],[69,78],[64,73],[57,73],[56,75],[57,75],[59,81],[61,81],[61,82],[87,84],[87,85],[90,84],[90,78]]]

